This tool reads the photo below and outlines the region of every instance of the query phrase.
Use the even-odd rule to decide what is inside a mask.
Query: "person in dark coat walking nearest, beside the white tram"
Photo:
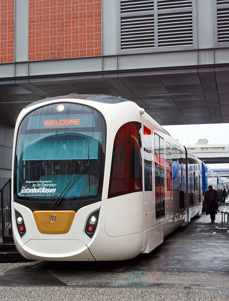
[[[218,194],[212,185],[208,186],[208,190],[204,194],[204,205],[206,206],[206,215],[210,214],[211,222],[215,222],[215,209],[219,208]]]

